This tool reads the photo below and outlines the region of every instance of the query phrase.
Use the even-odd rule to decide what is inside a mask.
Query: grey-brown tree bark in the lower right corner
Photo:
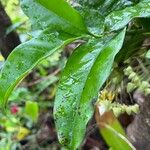
[[[127,128],[129,140],[137,150],[150,150],[150,95],[135,92],[134,100],[140,105],[140,113]]]

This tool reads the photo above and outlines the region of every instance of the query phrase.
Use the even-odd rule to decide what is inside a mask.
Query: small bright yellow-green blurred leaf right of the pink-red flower
[[[32,101],[26,101],[25,114],[28,115],[33,121],[37,121],[39,116],[38,103]]]

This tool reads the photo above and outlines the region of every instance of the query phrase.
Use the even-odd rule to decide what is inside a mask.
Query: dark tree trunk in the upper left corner
[[[5,59],[20,44],[20,39],[16,32],[12,31],[6,35],[6,30],[11,25],[11,20],[0,2],[0,51]]]

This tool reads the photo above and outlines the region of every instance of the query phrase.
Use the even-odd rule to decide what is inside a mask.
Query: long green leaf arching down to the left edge
[[[77,39],[66,33],[41,33],[13,50],[0,73],[0,106],[7,102],[17,84],[44,58]]]

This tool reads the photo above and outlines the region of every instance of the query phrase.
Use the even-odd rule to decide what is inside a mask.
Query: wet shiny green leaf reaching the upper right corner
[[[132,7],[110,13],[105,20],[108,31],[119,30],[126,26],[133,18],[150,17],[150,1],[142,1]]]

